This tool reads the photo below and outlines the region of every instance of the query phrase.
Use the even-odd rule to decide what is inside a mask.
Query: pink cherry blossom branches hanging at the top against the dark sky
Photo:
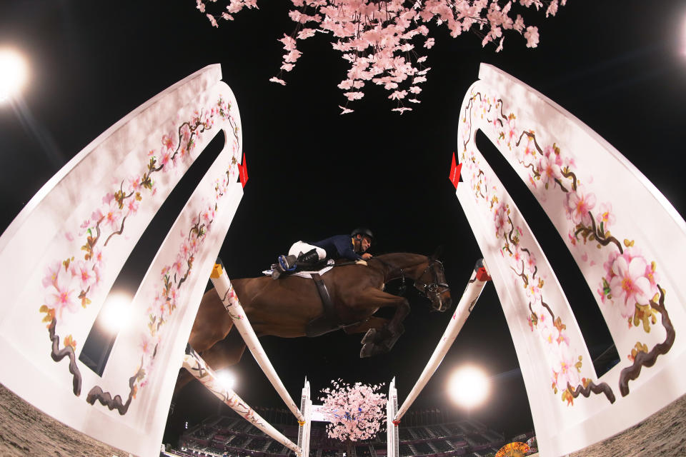
[[[234,20],[244,8],[257,8],[257,0],[229,0],[226,11],[206,12],[206,2],[196,0],[197,9],[207,14],[214,27],[217,19]],[[421,84],[427,81],[427,50],[435,44],[427,25],[444,24],[450,36],[456,38],[472,31],[482,39],[482,46],[497,42],[502,50],[504,31],[515,31],[526,40],[528,48],[538,45],[538,27],[527,26],[521,14],[531,6],[545,7],[545,16],[555,16],[567,0],[291,0],[295,9],[289,11],[296,26],[290,35],[284,34],[282,65],[277,76],[269,81],[286,85],[284,71],[292,71],[302,52],[298,40],[315,33],[328,34],[332,46],[349,62],[346,78],[338,84],[347,99],[341,114],[352,113],[350,101],[362,99],[367,84],[383,86],[396,101],[392,111],[403,114],[412,111],[405,106],[419,103]],[[513,6],[514,10],[513,11]]]

